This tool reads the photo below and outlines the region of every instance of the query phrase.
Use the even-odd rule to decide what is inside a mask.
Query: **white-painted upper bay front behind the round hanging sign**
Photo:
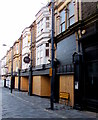
[[[24,62],[24,57],[30,55],[30,41],[30,28],[25,28],[22,32],[22,69],[27,69],[30,65]]]

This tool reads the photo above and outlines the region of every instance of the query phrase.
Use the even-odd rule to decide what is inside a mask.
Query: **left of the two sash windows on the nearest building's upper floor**
[[[60,12],[60,32],[65,31],[65,10]]]

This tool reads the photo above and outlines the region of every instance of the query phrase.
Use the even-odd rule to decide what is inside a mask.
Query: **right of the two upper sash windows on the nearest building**
[[[68,4],[67,10],[67,28],[75,23],[73,0]]]

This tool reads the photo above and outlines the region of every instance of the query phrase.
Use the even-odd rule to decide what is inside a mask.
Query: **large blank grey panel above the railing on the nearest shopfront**
[[[60,41],[57,44],[57,59],[60,61],[60,65],[72,64],[72,55],[75,51],[75,34]]]

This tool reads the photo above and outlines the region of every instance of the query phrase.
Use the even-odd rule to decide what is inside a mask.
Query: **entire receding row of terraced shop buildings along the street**
[[[14,88],[29,92],[32,84],[32,94],[41,97],[51,95],[51,43],[49,43],[51,2],[48,7],[40,9],[36,14],[36,20],[23,30],[21,38],[7,51],[1,65],[7,87],[10,88],[13,70]],[[55,18],[54,47],[55,60],[57,60],[54,101],[61,100],[59,99],[61,93],[67,93],[69,106],[96,111],[98,110],[96,94],[98,91],[98,3],[55,0],[52,17]],[[24,60],[26,57],[29,58],[28,63]],[[4,62],[5,58],[6,62]],[[7,68],[6,72],[5,68]]]

